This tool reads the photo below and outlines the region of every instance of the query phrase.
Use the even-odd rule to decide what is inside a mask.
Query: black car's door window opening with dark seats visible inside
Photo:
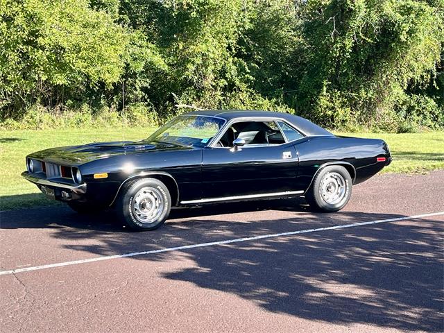
[[[283,144],[284,135],[275,121],[240,121],[225,131],[216,146],[232,147],[235,139],[244,139],[245,146]]]

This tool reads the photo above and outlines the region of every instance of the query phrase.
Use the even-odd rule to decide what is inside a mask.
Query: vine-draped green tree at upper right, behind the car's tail
[[[330,126],[395,121],[407,87],[436,75],[443,40],[438,2],[309,1],[311,59],[297,108]]]

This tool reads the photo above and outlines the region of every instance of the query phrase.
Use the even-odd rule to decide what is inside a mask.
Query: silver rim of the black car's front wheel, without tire
[[[153,223],[164,210],[164,196],[155,187],[142,187],[134,196],[131,205],[135,218],[142,223]]]

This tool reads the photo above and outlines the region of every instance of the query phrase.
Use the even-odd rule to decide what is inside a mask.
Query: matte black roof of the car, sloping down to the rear
[[[227,121],[241,117],[270,117],[270,118],[282,118],[289,123],[293,124],[298,130],[305,135],[332,135],[328,130],[312,123],[311,121],[295,116],[294,114],[284,112],[272,112],[272,111],[256,111],[256,110],[202,110],[193,111],[189,114],[196,114],[202,116],[211,116],[223,118]]]

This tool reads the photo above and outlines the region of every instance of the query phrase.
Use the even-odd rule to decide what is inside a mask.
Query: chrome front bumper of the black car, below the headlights
[[[28,171],[24,171],[22,177],[37,185],[44,194],[47,194],[44,191],[45,188],[53,189],[54,198],[58,200],[81,200],[86,194],[86,184],[74,185],[69,180],[63,178],[52,178],[49,180]]]

